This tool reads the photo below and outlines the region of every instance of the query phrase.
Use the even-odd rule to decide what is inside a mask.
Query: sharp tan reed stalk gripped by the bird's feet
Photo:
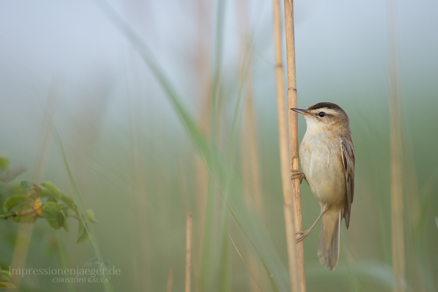
[[[293,0],[284,0],[284,18],[286,27],[286,55],[288,64],[288,109],[296,108],[296,73],[295,73],[295,35],[293,28]],[[300,169],[298,163],[298,117],[297,113],[288,110],[289,120],[289,157],[292,169]],[[303,230],[301,211],[300,180],[295,179],[292,184],[293,214],[295,230]],[[304,242],[296,244],[298,271],[300,276],[301,291],[306,292],[306,274],[304,269]]]

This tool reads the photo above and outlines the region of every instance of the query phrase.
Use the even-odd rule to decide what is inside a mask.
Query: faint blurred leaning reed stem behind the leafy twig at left
[[[54,116],[59,90],[59,80],[52,81],[49,96],[47,98],[46,112],[44,114],[43,122],[41,125],[41,132],[39,135],[39,145],[37,150],[37,158],[32,170],[32,183],[40,183],[44,177],[44,168],[46,165],[47,157],[49,155],[50,145],[52,144],[52,129],[50,127],[50,118]],[[18,225],[17,239],[14,247],[14,255],[12,256],[11,267],[13,269],[22,269],[26,262],[27,252],[32,237],[32,231],[34,223],[21,223]],[[20,290],[21,277],[14,276],[12,278],[12,284],[17,287],[17,291]]]

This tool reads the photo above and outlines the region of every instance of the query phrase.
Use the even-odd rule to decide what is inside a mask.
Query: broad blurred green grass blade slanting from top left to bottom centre
[[[280,256],[274,248],[274,244],[270,241],[268,232],[264,229],[263,224],[256,215],[252,214],[244,203],[243,192],[239,188],[239,183],[236,181],[235,173],[230,170],[224,163],[223,158],[219,154],[219,150],[216,145],[210,145],[207,142],[206,137],[201,133],[199,127],[195,123],[195,119],[183,106],[181,98],[178,96],[171,82],[165,76],[164,72],[156,62],[149,48],[142,41],[142,39],[129,27],[124,21],[106,2],[101,0],[95,0],[96,3],[102,8],[105,14],[112,20],[115,26],[120,29],[124,35],[129,39],[134,48],[145,60],[150,70],[160,84],[162,85],[166,96],[171,102],[172,106],[176,110],[181,122],[190,134],[194,144],[201,150],[205,161],[208,165],[214,167],[215,177],[219,179],[220,184],[226,183],[226,177],[231,177],[230,188],[232,192],[227,196],[229,200],[225,200],[230,211],[238,210],[238,212],[232,211],[233,217],[236,219],[239,226],[246,237],[250,240],[256,253],[264,263],[269,278],[273,283],[274,291],[288,291],[289,290],[289,278],[286,268],[284,267]],[[211,171],[210,173],[212,173]],[[215,178],[213,178],[215,179]],[[217,183],[215,183],[218,185]]]

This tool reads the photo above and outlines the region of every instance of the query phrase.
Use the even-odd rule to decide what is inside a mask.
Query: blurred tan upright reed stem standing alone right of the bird
[[[394,291],[403,292],[405,274],[403,190],[402,190],[402,114],[400,104],[397,0],[387,0],[389,40],[389,132],[391,151],[391,237]]]

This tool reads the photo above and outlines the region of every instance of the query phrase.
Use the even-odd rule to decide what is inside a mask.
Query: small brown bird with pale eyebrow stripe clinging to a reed
[[[347,113],[331,102],[320,102],[307,110],[291,109],[306,118],[307,130],[301,142],[301,168],[292,170],[292,179],[309,183],[310,190],[321,205],[321,214],[304,232],[303,240],[322,218],[318,256],[320,263],[333,270],[339,260],[341,220],[348,229],[354,192],[355,152]]]

